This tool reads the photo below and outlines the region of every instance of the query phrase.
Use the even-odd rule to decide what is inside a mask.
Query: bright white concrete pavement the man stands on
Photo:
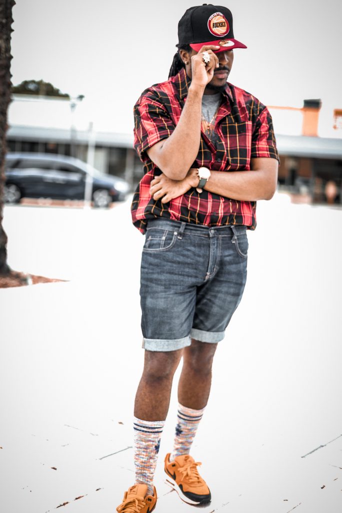
[[[342,211],[258,202],[243,300],[220,343],[193,447],[208,513],[342,511]],[[13,269],[70,280],[0,290],[0,509],[114,513],[134,482],[143,361],[129,203],[109,211],[7,206]],[[156,512],[190,511],[164,482]]]

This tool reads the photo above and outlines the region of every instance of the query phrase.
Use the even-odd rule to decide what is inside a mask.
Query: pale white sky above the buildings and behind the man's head
[[[193,5],[199,3],[18,2],[12,82],[42,78],[62,92],[84,94],[79,123],[130,133],[133,105],[146,87],[167,79],[178,21]],[[302,107],[304,98],[322,98],[320,135],[340,135],[331,127],[333,109],[342,108],[342,3],[230,0],[225,5],[233,13],[234,36],[248,46],[234,51],[229,81],[266,105]],[[272,115],[275,131],[284,132],[281,117]]]

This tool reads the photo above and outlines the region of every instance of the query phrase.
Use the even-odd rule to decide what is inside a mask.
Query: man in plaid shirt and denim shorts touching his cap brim
[[[136,481],[120,513],[149,513],[174,372],[178,418],[166,479],[190,504],[211,500],[190,447],[208,401],[211,365],[246,282],[255,202],[272,198],[278,157],[271,116],[227,83],[234,39],[225,7],[191,7],[178,25],[169,80],[135,105],[135,147],[144,176],[132,216],[146,235],[141,261],[144,369],[135,399]]]

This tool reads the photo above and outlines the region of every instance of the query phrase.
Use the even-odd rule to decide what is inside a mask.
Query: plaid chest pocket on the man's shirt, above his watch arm
[[[230,117],[222,124],[229,169],[249,169],[252,145],[252,122],[235,123]]]

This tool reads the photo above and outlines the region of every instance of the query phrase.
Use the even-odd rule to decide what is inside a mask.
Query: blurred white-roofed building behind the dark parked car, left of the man
[[[83,114],[83,115],[82,115]],[[99,171],[123,177],[134,187],[142,166],[133,148],[132,134],[92,131],[89,117],[75,99],[13,95],[9,108],[9,151],[56,153],[87,162],[94,146],[92,164]]]

